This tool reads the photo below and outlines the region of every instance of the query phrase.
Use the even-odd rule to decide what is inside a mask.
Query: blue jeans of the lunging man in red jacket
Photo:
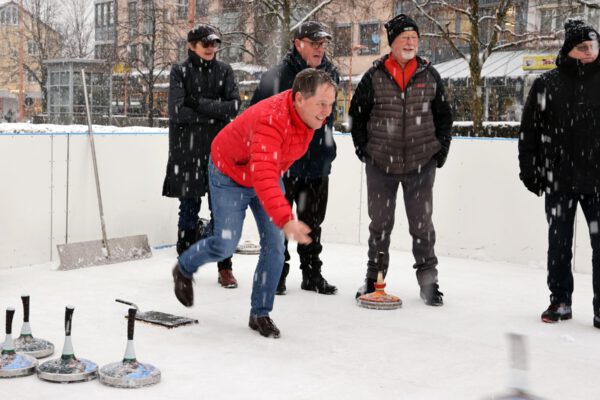
[[[273,224],[253,188],[238,185],[208,165],[213,232],[194,243],[179,257],[181,273],[191,278],[202,265],[223,260],[235,251],[250,207],[260,235],[260,255],[254,272],[250,313],[259,317],[273,310],[275,289],[283,268],[283,232]],[[281,183],[280,183],[281,185]]]

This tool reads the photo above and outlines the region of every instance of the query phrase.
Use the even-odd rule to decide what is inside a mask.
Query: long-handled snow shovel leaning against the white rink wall
[[[83,94],[85,98],[85,111],[88,121],[88,136],[92,149],[92,161],[94,165],[94,178],[96,181],[96,194],[98,196],[98,210],[100,211],[100,226],[102,228],[102,240],[92,240],[79,243],[65,243],[57,245],[60,267],[69,270],[92,265],[113,264],[123,261],[137,260],[152,256],[148,237],[146,235],[127,236],[108,240],[106,238],[106,224],[104,223],[104,208],[102,207],[102,195],[100,193],[100,179],[98,177],[98,163],[96,161],[96,147],[94,145],[94,134],[92,132],[92,117],[90,116],[90,105],[88,101],[87,85],[85,82],[85,70],[81,70],[83,83]]]

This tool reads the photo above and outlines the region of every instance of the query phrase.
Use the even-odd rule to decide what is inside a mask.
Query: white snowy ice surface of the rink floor
[[[0,380],[3,399],[484,399],[506,391],[506,333],[527,335],[529,383],[546,399],[598,397],[600,330],[592,326],[591,276],[576,274],[574,319],[549,325],[542,269],[504,263],[440,259],[445,305],[418,297],[409,253],[392,251],[386,290],[399,310],[357,307],[366,248],[327,243],[324,274],[335,296],[300,290],[297,259],[288,294],[271,316],[282,331],[267,339],[247,327],[256,256],[234,256],[237,289],[217,284],[216,265],[196,274],[196,305],[186,309],[172,293],[174,248],[154,250],[143,261],[57,271],[45,264],[0,270],[0,307],[17,309],[30,294],[36,337],[54,342],[60,355],[64,307],[74,305],[73,344],[78,357],[100,366],[122,358],[126,306],[197,318],[194,326],[166,329],[138,323],[138,360],[162,371],[162,381],[142,389],[115,389],[97,380],[53,384],[35,376]],[[15,335],[16,336],[16,335]]]

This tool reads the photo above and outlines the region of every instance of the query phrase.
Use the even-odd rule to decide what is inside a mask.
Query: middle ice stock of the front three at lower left
[[[84,358],[76,358],[71,342],[72,306],[65,309],[65,344],[60,358],[49,360],[38,367],[38,378],[50,382],[85,382],[96,378],[98,365]]]

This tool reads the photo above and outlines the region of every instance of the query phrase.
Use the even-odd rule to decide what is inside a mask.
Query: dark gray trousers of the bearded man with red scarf
[[[373,163],[366,163],[369,224],[369,261],[367,278],[377,279],[382,269],[385,276],[389,266],[390,236],[394,229],[394,215],[398,187],[402,184],[408,230],[413,239],[419,285],[437,282],[437,257],[434,252],[435,229],[431,220],[433,212],[433,182],[437,162],[431,160],[420,170],[408,174],[387,174]],[[378,254],[383,253],[380,261]],[[381,262],[381,266],[379,263]]]

